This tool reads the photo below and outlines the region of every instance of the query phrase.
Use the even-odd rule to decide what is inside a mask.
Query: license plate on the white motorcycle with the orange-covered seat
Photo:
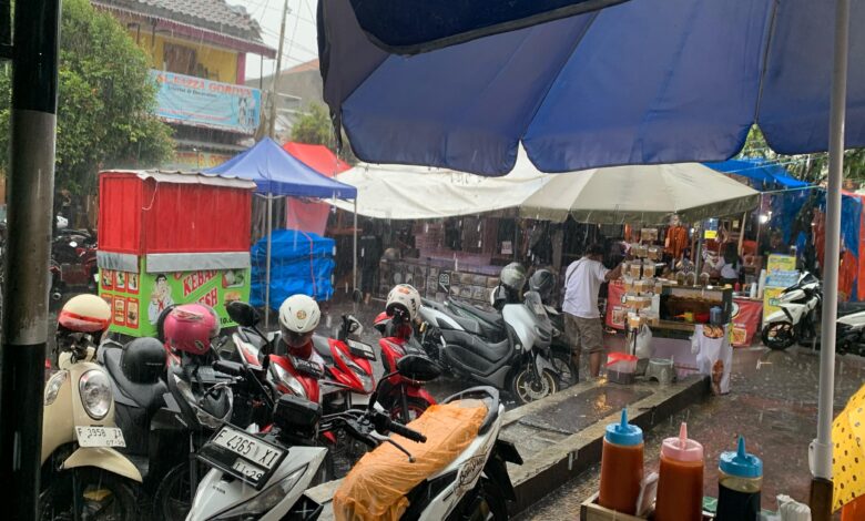
[[[223,426],[199,451],[212,467],[256,489],[264,487],[282,463],[286,450],[231,426]]]

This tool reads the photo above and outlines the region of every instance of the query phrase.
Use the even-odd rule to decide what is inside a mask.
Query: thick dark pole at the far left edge
[[[38,515],[48,264],[54,194],[60,0],[16,3],[7,296],[0,367],[0,483],[6,517]]]

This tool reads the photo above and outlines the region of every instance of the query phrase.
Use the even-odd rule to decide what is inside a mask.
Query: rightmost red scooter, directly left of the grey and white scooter
[[[381,334],[378,340],[381,347],[381,365],[385,367],[385,381],[378,392],[378,402],[390,412],[390,417],[408,423],[436,403],[423,381],[411,380],[397,370],[397,360],[406,355],[428,358],[424,348],[414,336],[411,321],[407,313],[397,307],[391,316],[380,313],[375,319],[375,328]]]

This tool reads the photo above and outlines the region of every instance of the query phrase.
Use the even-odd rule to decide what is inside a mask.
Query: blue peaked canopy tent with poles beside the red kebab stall
[[[206,173],[231,175],[255,182],[256,192],[267,198],[267,252],[265,268],[265,326],[269,325],[271,311],[271,242],[273,223],[273,197],[319,197],[355,200],[357,190],[345,183],[325,177],[292,156],[269,137],[265,137],[247,151],[225,163],[205,171]],[[355,214],[357,219],[357,214]],[[357,286],[357,226],[354,241],[354,285]]]

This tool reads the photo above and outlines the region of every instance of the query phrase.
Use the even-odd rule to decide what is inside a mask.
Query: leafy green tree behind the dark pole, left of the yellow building
[[[120,22],[88,0],[64,0],[54,185],[95,192],[104,167],[150,167],[173,155],[171,127],[156,120],[147,58]],[[9,164],[11,68],[0,73],[0,163]]]

